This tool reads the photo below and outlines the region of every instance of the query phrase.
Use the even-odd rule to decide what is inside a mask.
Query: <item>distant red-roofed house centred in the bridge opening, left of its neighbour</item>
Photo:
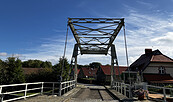
[[[95,78],[98,68],[81,68],[78,73],[78,78]]]

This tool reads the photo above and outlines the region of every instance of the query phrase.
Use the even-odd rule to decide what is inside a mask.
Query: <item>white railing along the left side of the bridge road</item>
[[[57,94],[61,96],[74,87],[75,80],[0,85],[0,100],[1,102],[9,102],[40,94]]]

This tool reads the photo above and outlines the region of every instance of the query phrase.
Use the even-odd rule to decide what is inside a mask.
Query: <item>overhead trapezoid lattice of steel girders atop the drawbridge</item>
[[[108,54],[124,18],[68,18],[81,54]]]

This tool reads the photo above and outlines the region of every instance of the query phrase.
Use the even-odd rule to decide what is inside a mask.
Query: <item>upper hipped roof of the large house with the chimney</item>
[[[173,59],[163,55],[159,50],[141,55],[135,62],[130,65],[131,71],[143,71],[151,62],[173,63]],[[138,68],[138,69],[137,69]]]

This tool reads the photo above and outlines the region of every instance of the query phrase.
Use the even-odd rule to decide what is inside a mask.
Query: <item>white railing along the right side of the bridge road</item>
[[[142,84],[140,84],[140,85],[142,85]],[[113,88],[117,92],[131,98],[131,97],[133,97],[132,89],[136,90],[137,84],[134,86],[130,86],[129,84],[115,82]],[[146,85],[146,84],[144,84],[140,88],[143,88],[144,90],[148,90],[150,95],[151,95],[151,93],[152,94],[155,93],[155,96],[160,95],[161,97],[163,97],[163,98],[160,98],[160,100],[162,100],[164,102],[167,102],[169,100],[169,98],[173,100],[173,88],[159,87],[159,86]],[[158,89],[160,89],[159,90],[160,92],[158,91]],[[146,92],[145,95],[148,99],[151,99],[152,97],[150,97],[148,92]],[[172,100],[171,100],[171,102],[172,102]],[[159,100],[157,100],[157,101],[159,101]]]

